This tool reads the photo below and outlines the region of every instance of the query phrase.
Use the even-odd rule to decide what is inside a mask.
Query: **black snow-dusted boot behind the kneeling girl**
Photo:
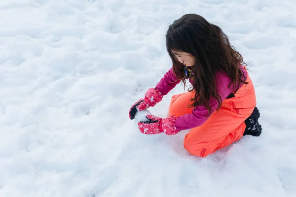
[[[262,127],[258,122],[259,117],[259,110],[257,107],[255,107],[251,116],[245,120],[247,127],[243,135],[259,136],[261,134]]]

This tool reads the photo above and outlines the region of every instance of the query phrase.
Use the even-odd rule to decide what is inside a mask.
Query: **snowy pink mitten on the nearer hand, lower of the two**
[[[139,122],[138,128],[144,134],[158,134],[164,132],[167,135],[175,135],[180,130],[177,130],[175,121],[177,117],[169,116],[167,118],[159,118],[152,115],[147,115],[147,121]]]

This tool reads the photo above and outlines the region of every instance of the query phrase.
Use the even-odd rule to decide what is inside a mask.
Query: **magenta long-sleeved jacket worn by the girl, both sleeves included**
[[[246,69],[243,69],[244,67],[241,65],[241,68],[243,72],[246,74]],[[218,94],[220,95],[222,101],[227,98],[227,96],[233,92],[233,90],[228,88],[228,85],[230,84],[230,79],[221,72],[218,72],[216,74],[216,87]],[[167,71],[164,76],[160,79],[160,81],[156,84],[156,88],[159,89],[159,91],[163,95],[167,95],[173,88],[176,87],[178,83],[180,83],[181,80],[178,80],[176,83],[172,83],[173,81],[176,81],[177,77],[173,72],[173,68],[170,68],[169,71]],[[192,81],[189,80],[189,82],[192,84]],[[218,106],[218,101],[214,98],[210,99],[210,107],[212,109],[212,113],[216,110],[216,107]],[[208,110],[204,106],[197,106],[192,110],[191,114],[185,114],[183,116],[180,116],[176,119],[175,126],[178,130],[186,130],[191,129],[194,127],[198,127],[202,125],[206,120],[208,119]]]

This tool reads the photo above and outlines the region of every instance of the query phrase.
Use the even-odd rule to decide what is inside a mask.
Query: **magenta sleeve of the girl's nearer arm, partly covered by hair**
[[[222,73],[216,74],[216,87],[218,94],[220,95],[222,101],[226,99],[226,97],[232,93],[232,90],[228,88],[230,84],[230,79],[223,75]],[[216,110],[218,106],[218,101],[214,98],[210,99],[210,107],[212,109],[212,113]],[[196,106],[191,114],[185,114],[176,119],[175,126],[178,130],[186,130],[194,127],[198,127],[202,125],[209,117],[208,110],[204,106]]]

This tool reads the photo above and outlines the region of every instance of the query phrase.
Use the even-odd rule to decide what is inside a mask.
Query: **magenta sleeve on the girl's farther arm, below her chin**
[[[174,82],[176,80],[177,76],[173,71],[173,67],[171,67],[156,84],[155,88],[157,88],[161,92],[161,94],[167,95],[181,81],[178,80],[177,82]]]

